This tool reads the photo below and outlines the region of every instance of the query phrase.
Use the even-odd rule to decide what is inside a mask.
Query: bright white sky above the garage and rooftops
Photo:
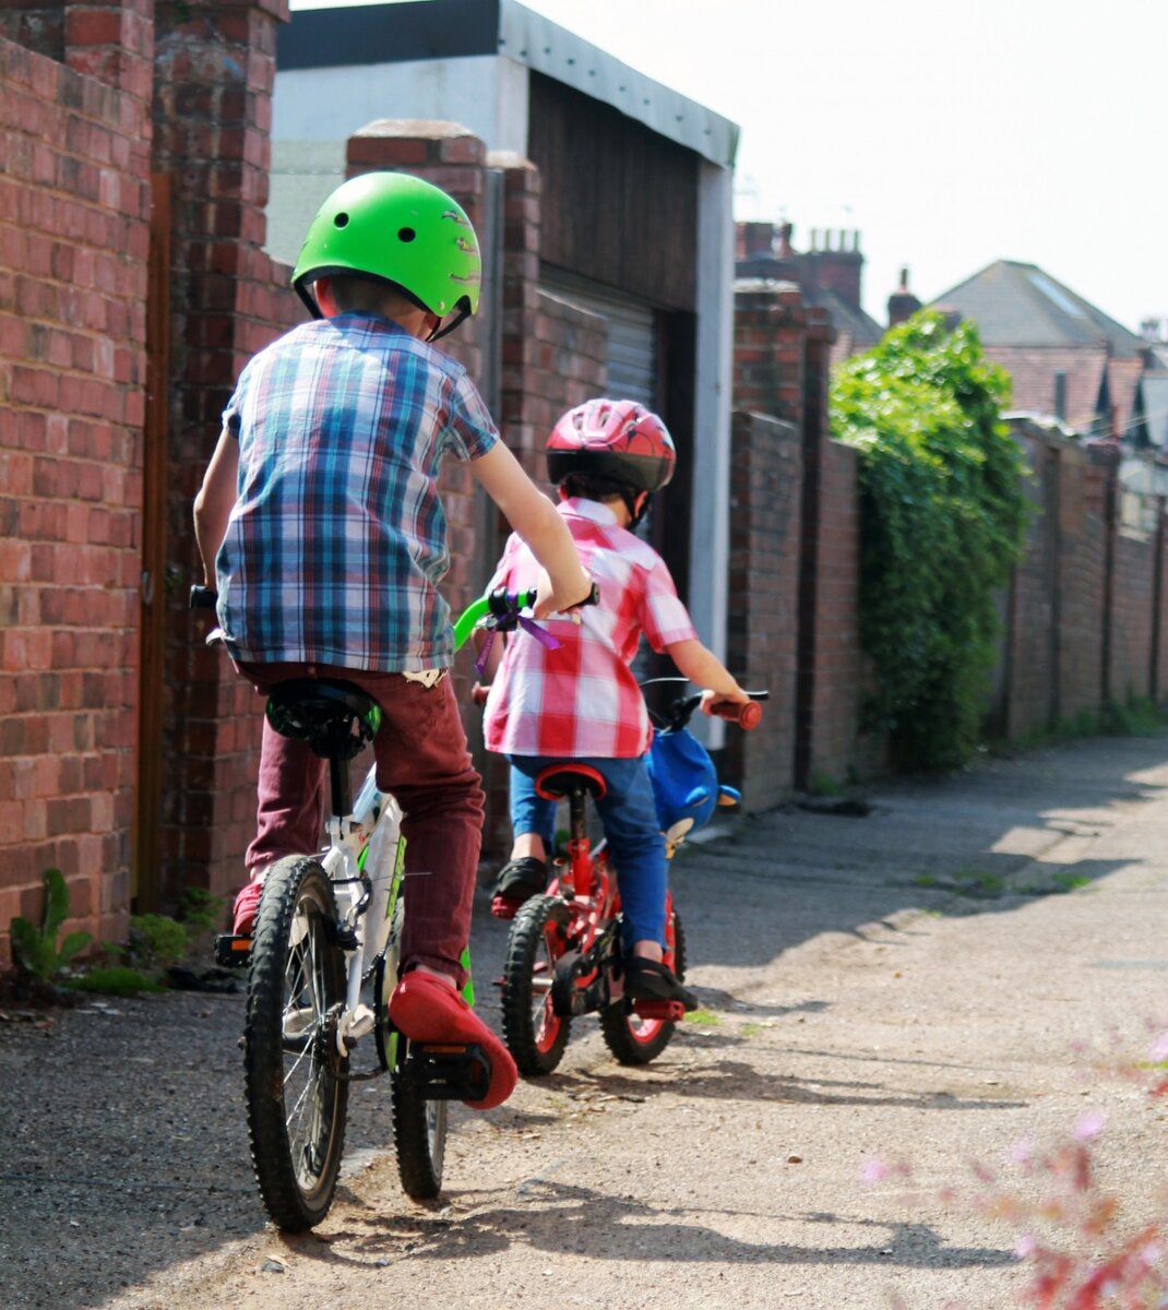
[[[736,122],[737,219],[858,231],[879,322],[995,259],[1168,320],[1168,0],[521,3]]]

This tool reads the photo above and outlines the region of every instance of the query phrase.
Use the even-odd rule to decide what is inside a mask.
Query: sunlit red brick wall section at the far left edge
[[[77,9],[54,39],[76,68],[0,39],[0,958],[46,867],[69,926],[123,937],[128,904],[148,34]]]

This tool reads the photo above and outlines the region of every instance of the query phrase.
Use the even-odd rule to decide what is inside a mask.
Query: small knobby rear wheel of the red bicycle
[[[503,1040],[525,1078],[549,1074],[563,1058],[571,1020],[551,1009],[555,963],[564,952],[568,909],[533,896],[511,921],[503,968]]]

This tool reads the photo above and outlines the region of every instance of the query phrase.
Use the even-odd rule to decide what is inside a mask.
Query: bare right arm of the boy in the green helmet
[[[536,617],[571,609],[592,592],[592,580],[580,567],[576,544],[555,506],[524,473],[519,460],[502,441],[471,461],[475,477],[499,506],[504,519],[522,537],[532,554],[547,570],[553,593],[539,591]]]

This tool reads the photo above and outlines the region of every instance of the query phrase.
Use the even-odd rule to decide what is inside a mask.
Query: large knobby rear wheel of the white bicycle
[[[263,886],[244,1019],[247,1136],[263,1205],[288,1233],[329,1213],[348,1083],[333,1039],[344,1000],[337,904],[316,859],[276,861]]]

